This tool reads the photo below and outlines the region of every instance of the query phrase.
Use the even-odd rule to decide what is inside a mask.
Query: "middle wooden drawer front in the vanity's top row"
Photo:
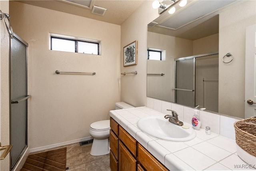
[[[130,152],[136,157],[136,139],[134,139],[124,128],[119,127],[119,139],[126,145]]]

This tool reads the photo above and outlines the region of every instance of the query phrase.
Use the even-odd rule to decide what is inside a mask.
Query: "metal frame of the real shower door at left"
[[[18,158],[16,159],[16,161],[14,162],[14,165],[12,166],[12,156],[11,156],[11,153],[10,153],[10,171],[13,170],[18,161],[20,161],[22,155],[24,154],[24,152],[26,151],[26,149],[28,148],[28,101],[27,99],[29,97],[31,97],[31,95],[28,95],[28,43],[25,42],[22,38],[20,38],[20,36],[18,36],[17,34],[13,33],[13,39],[16,39],[18,42],[22,43],[24,46],[26,46],[26,97],[24,97],[23,99],[21,100],[26,100],[26,145],[24,147],[24,149],[21,151],[20,155],[18,156]],[[12,56],[11,56],[11,50],[12,50],[12,39],[10,39],[10,54],[9,54],[9,109],[10,109],[10,142],[11,141],[11,132],[12,132],[12,118],[11,118],[11,112],[12,112],[12,107],[11,105],[13,103],[15,103],[15,101],[12,101],[12,73],[11,73],[11,64],[12,64]],[[20,100],[19,100],[20,101]]]

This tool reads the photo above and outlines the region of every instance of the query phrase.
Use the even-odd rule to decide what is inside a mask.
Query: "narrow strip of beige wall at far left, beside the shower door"
[[[9,14],[9,1],[0,1],[1,11]],[[10,144],[9,129],[9,36],[4,24],[0,20],[0,142],[2,146]],[[9,155],[0,160],[0,170],[8,171],[10,165]]]

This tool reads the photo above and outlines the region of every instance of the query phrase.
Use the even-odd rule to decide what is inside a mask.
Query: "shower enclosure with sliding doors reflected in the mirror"
[[[175,60],[174,87],[176,103],[218,112],[218,53]]]

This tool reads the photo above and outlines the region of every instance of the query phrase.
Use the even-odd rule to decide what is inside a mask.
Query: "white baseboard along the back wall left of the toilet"
[[[88,141],[88,140],[91,140],[91,139],[93,139],[93,137],[86,137],[86,138],[75,139],[75,140],[72,140],[72,141],[66,141],[66,142],[62,142],[62,143],[58,143],[58,144],[46,145],[46,146],[43,146],[43,147],[37,147],[37,148],[30,149],[29,152],[33,153],[33,152],[42,151],[42,150],[46,150],[46,149],[61,147],[61,146],[64,146],[64,145],[80,143],[82,141]]]

